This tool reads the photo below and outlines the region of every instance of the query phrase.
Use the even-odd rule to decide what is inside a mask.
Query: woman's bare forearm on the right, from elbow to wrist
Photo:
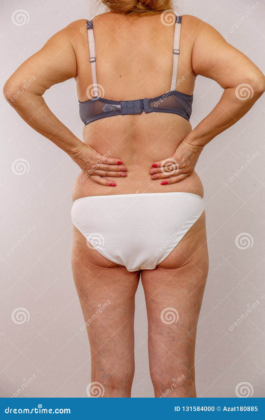
[[[263,84],[256,89],[248,86],[225,89],[215,108],[186,136],[185,142],[204,147],[215,136],[239,121],[263,92]]]

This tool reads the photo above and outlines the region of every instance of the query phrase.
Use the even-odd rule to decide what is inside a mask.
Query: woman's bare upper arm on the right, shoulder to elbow
[[[195,75],[213,79],[223,89],[249,83],[264,89],[264,75],[241,51],[228,44],[213,26],[193,17],[192,66]]]

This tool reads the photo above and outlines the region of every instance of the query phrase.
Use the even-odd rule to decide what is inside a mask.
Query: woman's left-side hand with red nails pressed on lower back
[[[97,150],[88,144],[81,144],[69,153],[73,161],[81,168],[85,175],[97,184],[116,186],[115,181],[107,177],[126,177],[126,166],[120,159],[114,159],[106,155],[100,155]]]

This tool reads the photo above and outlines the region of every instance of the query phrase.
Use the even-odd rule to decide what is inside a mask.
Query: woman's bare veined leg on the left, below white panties
[[[72,270],[91,349],[90,394],[130,397],[134,377],[134,296],[139,273],[127,271],[87,246],[76,228]]]

